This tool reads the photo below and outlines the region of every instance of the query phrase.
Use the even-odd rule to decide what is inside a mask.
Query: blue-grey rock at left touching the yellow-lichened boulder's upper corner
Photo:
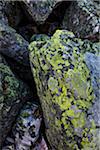
[[[0,22],[0,53],[18,63],[29,66],[28,42],[16,31]]]

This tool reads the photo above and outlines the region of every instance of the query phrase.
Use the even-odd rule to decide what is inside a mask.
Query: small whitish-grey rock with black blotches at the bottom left
[[[37,104],[27,102],[21,109],[12,134],[6,139],[3,149],[14,147],[17,150],[29,150],[40,138],[42,113]],[[12,138],[13,137],[13,138]]]

